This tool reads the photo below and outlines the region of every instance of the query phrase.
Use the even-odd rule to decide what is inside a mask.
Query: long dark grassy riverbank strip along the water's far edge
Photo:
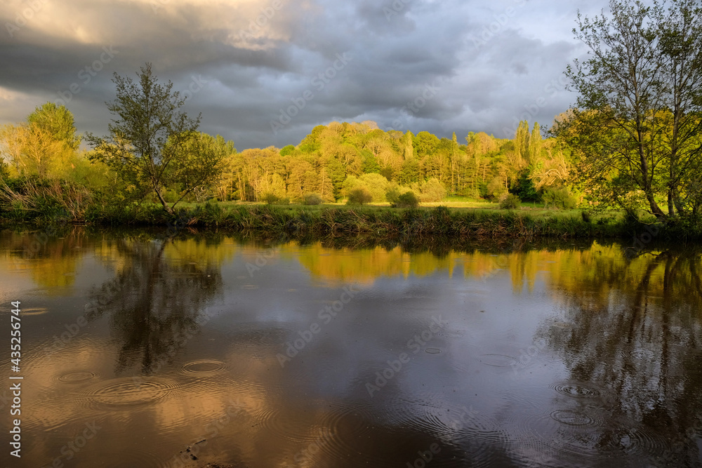
[[[225,228],[267,234],[314,236],[373,235],[451,236],[485,239],[552,237],[561,239],[629,238],[647,243],[654,238],[699,240],[699,232],[683,227],[646,225],[616,216],[597,218],[572,210],[456,209],[445,206],[389,208],[383,206],[230,205],[204,203],[168,215],[157,205],[91,207],[76,217],[65,210],[0,213],[4,227],[85,224],[162,227],[168,235],[183,229]]]

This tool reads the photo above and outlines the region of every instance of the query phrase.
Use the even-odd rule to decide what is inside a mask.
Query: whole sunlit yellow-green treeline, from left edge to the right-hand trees
[[[420,201],[447,195],[492,200],[507,192],[538,201],[567,182],[569,151],[555,139],[542,139],[537,123],[530,131],[522,121],[511,140],[483,132],[462,140],[465,144],[455,133],[448,139],[424,131],[383,131],[373,121],[331,122],[314,127],[296,146],[237,152],[234,142],[199,133],[184,151],[197,153],[194,163],[199,154],[212,155],[220,161],[218,171],[192,191],[186,190],[187,178],[173,178],[162,195],[168,203],[183,193],[185,201],[303,201],[314,194],[333,202],[361,188],[376,202],[410,191]],[[124,177],[80,143],[72,114],[48,102],[27,121],[0,129],[1,174],[67,181],[107,191],[118,202],[154,198],[138,174]]]

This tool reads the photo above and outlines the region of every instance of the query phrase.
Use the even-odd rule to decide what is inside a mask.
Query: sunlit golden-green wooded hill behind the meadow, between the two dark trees
[[[541,138],[538,123],[520,123],[512,140],[469,133],[465,144],[428,132],[383,131],[373,121],[316,126],[297,145],[245,149],[226,159],[219,199],[261,201],[268,194],[302,200],[314,193],[324,201],[344,199],[355,187],[373,201],[387,192],[413,191],[422,201],[446,195],[496,199],[512,192],[527,201],[545,189],[562,189],[569,176],[569,152],[555,139]]]

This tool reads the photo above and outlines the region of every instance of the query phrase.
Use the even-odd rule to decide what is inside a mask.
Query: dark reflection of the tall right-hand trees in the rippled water
[[[668,439],[665,466],[698,466],[702,422],[701,251],[592,256],[573,283],[555,283],[569,326],[545,326],[572,380],[607,389],[611,417]],[[580,274],[582,273],[582,274]],[[548,327],[548,328],[547,328]],[[697,435],[695,435],[697,432]],[[616,429],[601,443],[618,443]]]

